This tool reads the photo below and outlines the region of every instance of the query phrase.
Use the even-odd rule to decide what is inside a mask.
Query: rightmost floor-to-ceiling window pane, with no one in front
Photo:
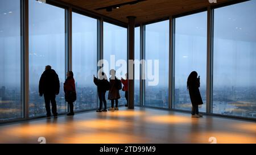
[[[214,114],[256,118],[256,1],[214,9]]]

